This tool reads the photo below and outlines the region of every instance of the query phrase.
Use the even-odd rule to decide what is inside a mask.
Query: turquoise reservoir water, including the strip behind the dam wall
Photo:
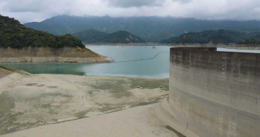
[[[8,68],[25,70],[32,74],[54,73],[75,75],[111,75],[146,78],[169,77],[169,51],[168,46],[86,46],[98,54],[115,59],[110,64],[53,64],[53,65],[7,65]],[[240,50],[217,48],[218,51],[227,52],[252,52],[260,53],[260,50]],[[158,54],[159,52],[163,52]],[[158,55],[157,55],[158,54]],[[155,58],[153,58],[157,55]],[[121,62],[153,58],[149,60]]]

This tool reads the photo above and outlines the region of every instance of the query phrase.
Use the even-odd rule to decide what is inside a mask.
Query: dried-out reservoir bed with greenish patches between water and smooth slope
[[[27,75],[0,94],[0,135],[147,105],[167,95],[168,79]]]

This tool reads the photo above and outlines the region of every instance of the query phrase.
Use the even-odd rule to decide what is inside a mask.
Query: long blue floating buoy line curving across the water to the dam
[[[165,51],[165,52],[169,52],[169,51]],[[159,55],[160,53],[164,53],[164,52],[159,52],[157,53],[154,57],[152,58],[145,58],[145,59],[136,59],[136,60],[128,60],[128,61],[119,61],[119,62],[96,62],[96,63],[44,63],[44,62],[40,62],[40,63],[21,63],[21,64],[2,64],[2,65],[53,65],[53,64],[110,64],[110,63],[121,63],[121,62],[132,62],[132,61],[140,61],[140,60],[149,60],[149,59],[153,59],[155,58],[157,55]],[[111,58],[111,57],[108,57]],[[113,59],[113,58],[112,58]]]

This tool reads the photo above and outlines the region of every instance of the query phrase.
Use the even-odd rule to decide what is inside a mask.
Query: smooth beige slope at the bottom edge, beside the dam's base
[[[157,118],[154,112],[156,105],[158,103],[85,119],[43,125],[1,137],[182,137]]]

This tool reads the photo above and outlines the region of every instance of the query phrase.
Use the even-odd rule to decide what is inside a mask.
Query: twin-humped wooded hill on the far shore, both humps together
[[[82,32],[77,32],[73,35],[83,42],[145,43],[144,40],[127,31],[117,31],[109,34],[94,29],[89,29]]]

